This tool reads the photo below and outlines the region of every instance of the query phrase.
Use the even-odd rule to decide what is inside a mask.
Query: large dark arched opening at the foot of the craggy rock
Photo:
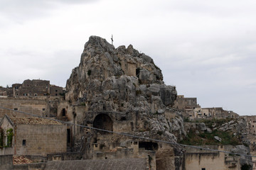
[[[95,117],[95,120],[93,121],[93,128],[113,131],[113,121],[110,116],[101,113]],[[109,134],[108,132],[100,130],[98,132],[102,135]]]

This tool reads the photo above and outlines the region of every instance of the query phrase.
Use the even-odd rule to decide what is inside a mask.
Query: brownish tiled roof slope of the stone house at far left
[[[37,117],[9,117],[14,124],[26,124],[26,125],[63,125],[55,120],[49,120],[45,118]]]

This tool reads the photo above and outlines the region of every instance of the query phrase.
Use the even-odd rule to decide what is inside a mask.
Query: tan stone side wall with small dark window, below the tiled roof
[[[67,149],[66,125],[17,125],[14,134],[14,154],[46,156]]]

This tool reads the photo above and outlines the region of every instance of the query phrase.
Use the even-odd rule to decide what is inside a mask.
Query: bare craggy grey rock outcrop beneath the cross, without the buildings
[[[133,120],[129,133],[134,135],[176,142],[186,134],[181,115],[172,108],[175,86],[164,84],[161,69],[132,45],[114,48],[91,36],[66,89],[66,100],[84,105],[86,112],[120,113],[123,120]],[[86,123],[88,116],[84,118]]]

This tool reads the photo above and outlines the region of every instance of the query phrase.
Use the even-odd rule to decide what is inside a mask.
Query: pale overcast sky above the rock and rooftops
[[[255,115],[255,0],[0,0],[0,86],[65,86],[90,35],[132,44],[201,107]]]

